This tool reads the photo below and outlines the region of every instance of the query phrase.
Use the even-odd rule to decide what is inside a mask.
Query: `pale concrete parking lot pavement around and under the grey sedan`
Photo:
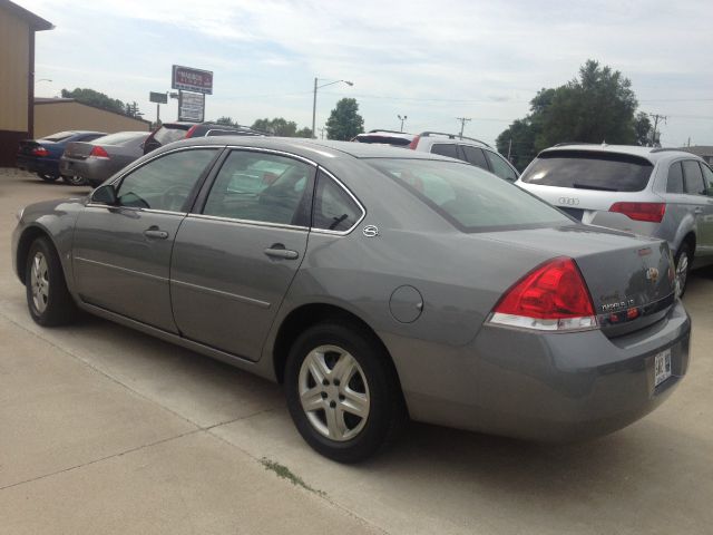
[[[713,532],[712,271],[684,300],[688,376],[633,426],[543,446],[413,424],[342,466],[276,385],[96,318],[31,321],[14,213],[86,192],[0,169],[0,533]]]

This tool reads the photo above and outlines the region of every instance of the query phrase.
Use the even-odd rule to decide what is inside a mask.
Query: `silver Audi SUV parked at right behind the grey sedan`
[[[517,184],[583,223],[665,240],[682,295],[691,269],[713,263],[713,172],[691,153],[561,144]]]

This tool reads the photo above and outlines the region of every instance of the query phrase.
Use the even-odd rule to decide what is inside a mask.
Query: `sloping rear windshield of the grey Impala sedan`
[[[567,216],[534,195],[478,167],[432,159],[370,158],[462,232],[559,226]]]

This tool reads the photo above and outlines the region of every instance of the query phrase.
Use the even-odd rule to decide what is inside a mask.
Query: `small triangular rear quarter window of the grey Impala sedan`
[[[312,212],[312,227],[344,232],[362,216],[354,200],[325,173],[320,172]]]

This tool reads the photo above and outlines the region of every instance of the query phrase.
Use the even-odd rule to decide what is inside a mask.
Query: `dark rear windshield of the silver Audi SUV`
[[[627,154],[553,150],[540,154],[521,179],[543,186],[641,192],[653,168],[647,159]]]

